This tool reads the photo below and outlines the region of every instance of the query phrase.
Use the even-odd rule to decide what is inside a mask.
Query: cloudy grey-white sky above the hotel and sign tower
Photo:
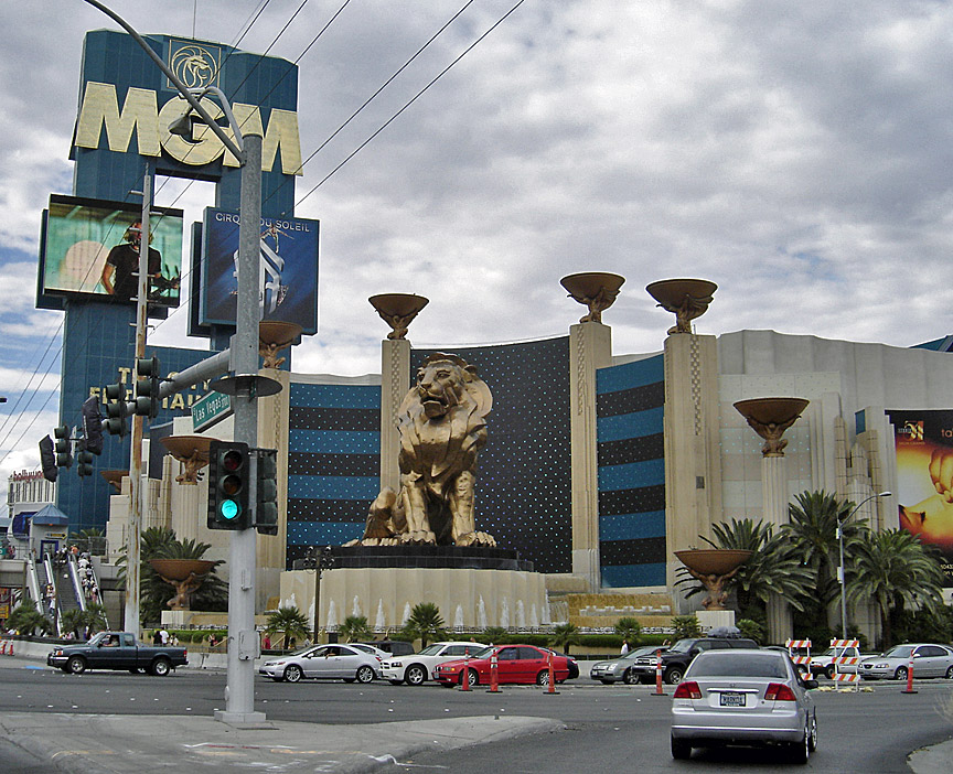
[[[296,370],[378,372],[378,292],[430,299],[420,346],[564,334],[585,310],[559,279],[587,270],[627,278],[603,318],[617,354],[661,348],[672,319],[644,288],[674,277],[719,286],[702,333],[909,346],[953,327],[945,0],[108,4],[142,33],[194,23],[300,57],[306,158],[459,12],[298,180],[297,214],[322,225],[320,331]],[[34,309],[40,217],[71,191],[84,32],[118,28],[83,0],[8,2],[0,20],[3,477],[38,464],[56,423],[63,314]],[[157,202],[179,196],[186,222],[213,203],[179,181]],[[183,311],[150,341],[206,346],[184,330]]]

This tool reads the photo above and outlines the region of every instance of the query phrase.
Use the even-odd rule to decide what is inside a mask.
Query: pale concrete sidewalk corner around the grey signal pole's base
[[[545,718],[322,725],[286,721],[238,728],[212,718],[18,712],[0,734],[64,774],[182,772],[341,772],[383,768],[428,750],[447,751],[561,729]]]

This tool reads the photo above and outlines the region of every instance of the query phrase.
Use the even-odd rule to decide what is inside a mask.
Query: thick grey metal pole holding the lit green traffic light
[[[231,369],[235,376],[258,374],[258,264],[261,244],[261,136],[244,135],[242,198],[238,230],[238,299],[235,335],[232,336]],[[245,380],[247,389],[235,396],[234,439],[258,445],[258,396],[255,379]],[[248,501],[257,502],[256,460],[249,455]],[[231,534],[228,583],[228,679],[225,710],[216,720],[254,723],[265,720],[255,712],[255,658],[259,654],[255,631],[255,576],[258,557],[255,528]]]

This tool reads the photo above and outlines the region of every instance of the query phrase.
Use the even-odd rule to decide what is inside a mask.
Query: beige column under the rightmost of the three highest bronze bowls
[[[666,583],[677,579],[674,551],[698,547],[721,519],[720,404],[715,336],[665,340]]]

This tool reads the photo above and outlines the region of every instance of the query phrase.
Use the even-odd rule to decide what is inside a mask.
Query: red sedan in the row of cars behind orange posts
[[[549,685],[550,652],[534,645],[491,645],[478,651],[465,662],[461,658],[440,664],[433,679],[446,687],[459,685],[463,680],[463,669],[471,686],[490,684],[490,663],[496,656],[496,675],[500,685],[507,682],[535,682],[538,686]],[[553,655],[553,676],[556,682],[563,682],[572,673],[571,658]],[[578,670],[575,674],[579,674]]]

